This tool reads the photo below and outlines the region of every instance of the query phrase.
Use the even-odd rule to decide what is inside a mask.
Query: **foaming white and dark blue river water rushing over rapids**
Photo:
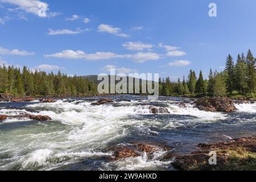
[[[98,98],[67,98],[55,103],[0,102],[0,114],[48,115],[49,122],[0,123],[0,170],[172,170],[166,151],[148,158],[110,160],[117,144],[164,143],[188,154],[198,143],[256,134],[256,104],[236,104],[235,113],[200,111],[189,98],[116,96],[115,103],[92,106]],[[184,106],[177,104],[184,102]],[[150,114],[149,107],[170,114]],[[170,152],[170,151],[169,151]]]

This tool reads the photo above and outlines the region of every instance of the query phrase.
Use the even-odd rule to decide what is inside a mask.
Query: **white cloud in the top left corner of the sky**
[[[38,6],[40,5],[40,3],[44,3],[44,5],[46,5],[47,10],[49,7],[49,5],[46,2],[42,2],[39,0],[0,0],[0,2],[16,5],[18,6],[18,9],[35,15],[38,15]]]

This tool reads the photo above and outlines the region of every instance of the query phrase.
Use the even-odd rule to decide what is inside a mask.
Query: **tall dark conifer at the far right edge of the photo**
[[[255,90],[255,76],[256,76],[256,71],[255,71],[255,59],[253,57],[253,54],[251,53],[250,49],[247,53],[246,56],[246,64],[248,68],[248,89],[249,93],[254,93]]]

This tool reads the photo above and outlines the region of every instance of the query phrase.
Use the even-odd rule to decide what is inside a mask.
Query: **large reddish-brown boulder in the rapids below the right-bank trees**
[[[198,101],[195,101],[196,107],[199,110],[205,111],[223,111],[223,112],[233,112],[236,111],[236,106],[233,103],[233,100],[227,97],[213,97],[213,98],[204,98]]]

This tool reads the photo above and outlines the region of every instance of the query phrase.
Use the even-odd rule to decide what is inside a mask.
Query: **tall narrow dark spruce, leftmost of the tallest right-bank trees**
[[[235,84],[235,69],[234,69],[234,61],[231,55],[228,55],[226,58],[226,67],[225,67],[225,72],[226,72],[226,86],[228,88],[228,92],[232,94]]]

